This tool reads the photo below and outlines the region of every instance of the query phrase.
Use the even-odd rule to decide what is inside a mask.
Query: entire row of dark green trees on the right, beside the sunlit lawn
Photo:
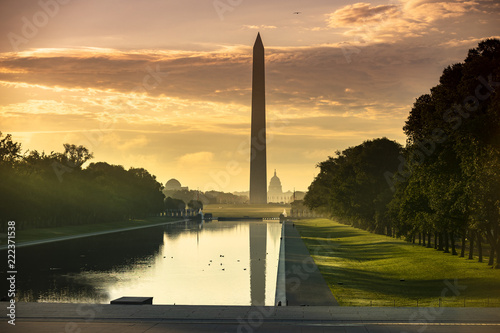
[[[411,80],[411,78],[408,78]],[[406,147],[386,138],[318,164],[311,209],[376,233],[469,258],[483,244],[500,268],[500,40],[469,50],[417,98]]]

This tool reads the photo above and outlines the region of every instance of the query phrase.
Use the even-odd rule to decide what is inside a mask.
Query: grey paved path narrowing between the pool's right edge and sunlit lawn
[[[288,305],[339,305],[291,222],[285,224],[285,242]]]

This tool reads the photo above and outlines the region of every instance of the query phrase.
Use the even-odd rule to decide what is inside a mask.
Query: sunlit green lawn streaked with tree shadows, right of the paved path
[[[295,225],[341,305],[500,306],[500,270],[477,259],[328,219]]]

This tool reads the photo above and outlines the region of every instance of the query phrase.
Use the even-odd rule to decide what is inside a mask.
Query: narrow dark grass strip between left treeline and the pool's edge
[[[116,230],[130,227],[146,226],[161,222],[179,220],[179,217],[151,217],[142,220],[131,220],[122,222],[110,222],[104,224],[86,224],[75,225],[55,228],[40,228],[16,231],[16,243],[43,240],[50,238],[58,238],[64,236],[73,236],[79,234],[86,234],[90,232]],[[5,245],[7,237],[1,237],[0,245]]]

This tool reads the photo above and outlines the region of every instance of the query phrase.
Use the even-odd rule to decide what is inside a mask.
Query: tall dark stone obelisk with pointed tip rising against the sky
[[[250,144],[250,204],[267,203],[266,87],[264,45],[257,34],[253,46],[252,131]]]

